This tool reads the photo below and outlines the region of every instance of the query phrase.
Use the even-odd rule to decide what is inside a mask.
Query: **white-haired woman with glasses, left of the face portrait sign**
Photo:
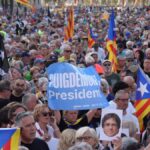
[[[82,127],[76,132],[76,142],[86,142],[90,144],[93,150],[100,150],[99,139],[96,135],[96,131],[90,127]]]

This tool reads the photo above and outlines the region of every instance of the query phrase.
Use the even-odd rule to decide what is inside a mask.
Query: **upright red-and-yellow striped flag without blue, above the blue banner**
[[[74,34],[74,9],[69,9],[67,25],[64,28],[64,41],[71,41]]]

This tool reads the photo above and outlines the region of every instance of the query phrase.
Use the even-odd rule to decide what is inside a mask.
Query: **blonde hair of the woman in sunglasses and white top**
[[[35,121],[38,121],[39,115],[43,112],[44,108],[48,108],[47,104],[37,104],[35,106],[34,112],[33,112]]]

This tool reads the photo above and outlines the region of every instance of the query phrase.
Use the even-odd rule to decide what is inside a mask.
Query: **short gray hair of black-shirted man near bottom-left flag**
[[[33,117],[33,114],[31,112],[22,112],[22,113],[19,113],[17,116],[16,116],[16,119],[15,119],[15,125],[18,126],[18,127],[21,127],[21,121],[23,118],[25,117],[28,117],[28,116],[31,116]]]

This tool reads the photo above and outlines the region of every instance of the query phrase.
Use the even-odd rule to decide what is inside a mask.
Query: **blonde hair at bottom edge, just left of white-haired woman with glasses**
[[[67,150],[75,144],[76,130],[66,129],[62,132],[58,143],[58,150]]]

